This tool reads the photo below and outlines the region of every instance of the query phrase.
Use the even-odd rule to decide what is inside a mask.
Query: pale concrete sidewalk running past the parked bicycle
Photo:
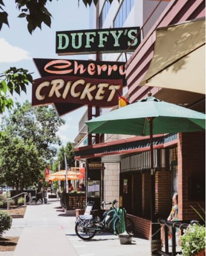
[[[149,256],[150,241],[133,238],[132,244],[120,244],[109,233],[96,235],[90,241],[77,237],[76,217],[65,215],[60,201],[49,199],[47,204],[27,206],[24,218],[13,218],[11,229],[4,236],[20,237],[14,252],[0,256]]]

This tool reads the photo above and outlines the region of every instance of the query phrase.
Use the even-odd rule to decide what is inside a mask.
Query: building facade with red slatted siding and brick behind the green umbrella
[[[205,93],[140,86],[149,69],[158,27],[203,18],[205,1],[100,1],[96,9],[95,27],[141,27],[141,44],[134,53],[104,54],[102,60],[126,61],[127,87],[124,93],[130,103],[156,98],[205,113]],[[198,84],[196,84],[198,87]],[[186,105],[185,105],[186,106]],[[105,110],[102,110],[102,114]],[[87,114],[85,114],[87,116]],[[85,116],[83,117],[85,120]],[[101,200],[119,199],[135,223],[135,233],[150,239],[150,157],[149,138],[140,136],[101,135],[100,143],[85,145],[86,132],[78,136],[76,159],[85,164],[101,163],[104,168],[88,168],[88,179],[99,178]],[[197,218],[190,205],[205,207],[205,133],[155,135],[153,141],[155,167],[155,217],[167,218],[172,207],[173,192],[178,192],[179,220]],[[94,175],[94,177],[92,177]]]

